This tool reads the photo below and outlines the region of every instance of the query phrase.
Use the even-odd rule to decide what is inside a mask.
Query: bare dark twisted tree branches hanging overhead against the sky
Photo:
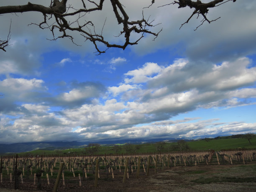
[[[217,7],[228,1],[235,2],[236,0],[212,0],[209,3],[202,3],[200,0],[174,0],[172,3],[167,5],[178,5],[178,8],[189,7],[193,10],[190,17],[185,21],[181,27],[188,23],[189,20],[195,15],[197,18],[202,17],[201,26],[204,22],[211,23],[212,21],[207,18],[207,13],[209,8]],[[102,18],[102,29],[100,31],[95,31],[95,25],[92,21],[87,20],[87,15],[92,12],[97,12],[102,10],[105,7],[106,3],[111,3],[113,8],[113,13],[116,18],[116,23],[122,26],[122,31],[117,35],[118,37],[124,38],[123,44],[111,43],[102,36],[102,31],[105,26],[106,18]],[[148,0],[148,2],[150,2]],[[103,3],[105,3],[103,5]],[[126,2],[125,2],[126,3]],[[145,8],[153,6],[155,0],[151,1],[151,4]],[[134,5],[136,6],[136,5]],[[117,47],[125,49],[128,45],[138,44],[138,41],[144,37],[146,33],[151,34],[156,38],[160,31],[152,32],[151,27],[156,26],[158,23],[153,24],[152,21],[149,21],[148,18],[144,18],[142,12],[142,18],[138,20],[130,20],[129,15],[125,11],[125,6],[120,3],[120,0],[79,0],[75,3],[71,0],[49,0],[49,5],[38,5],[28,2],[26,5],[16,5],[16,6],[1,6],[0,15],[7,13],[23,13],[23,12],[38,12],[42,14],[41,23],[31,23],[38,26],[41,29],[49,29],[53,35],[51,40],[56,40],[59,38],[69,38],[74,44],[74,37],[71,32],[78,32],[84,37],[85,41],[91,41],[94,44],[96,52],[98,54],[105,53],[106,49],[110,47]],[[164,13],[163,13],[164,14]],[[75,19],[74,19],[75,18]],[[105,21],[104,21],[105,20]],[[182,22],[182,21],[181,21]],[[197,28],[199,27],[197,26]],[[11,23],[10,23],[11,28]],[[6,47],[9,46],[10,33],[11,30],[8,29],[9,33],[5,40],[0,39],[0,49],[6,51]],[[196,29],[197,29],[196,28]],[[2,28],[3,30],[3,28]],[[131,38],[133,33],[138,33],[136,39]],[[116,35],[116,34],[113,34]],[[105,46],[105,49],[100,48],[100,45]]]

